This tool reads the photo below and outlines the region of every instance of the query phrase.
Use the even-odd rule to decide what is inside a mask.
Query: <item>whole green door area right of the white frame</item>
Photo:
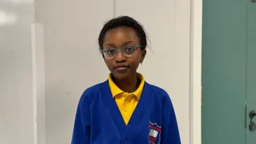
[[[203,0],[202,46],[202,143],[255,144],[256,3]]]

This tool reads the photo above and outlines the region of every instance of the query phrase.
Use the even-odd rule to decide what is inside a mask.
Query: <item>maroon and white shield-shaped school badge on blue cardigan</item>
[[[158,126],[156,123],[149,121],[149,143],[159,144],[161,141],[162,126]]]

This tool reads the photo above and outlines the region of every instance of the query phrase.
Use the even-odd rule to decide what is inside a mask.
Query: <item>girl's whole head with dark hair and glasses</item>
[[[147,37],[136,20],[124,16],[109,20],[99,35],[103,59],[115,78],[124,79],[137,73],[147,53]]]

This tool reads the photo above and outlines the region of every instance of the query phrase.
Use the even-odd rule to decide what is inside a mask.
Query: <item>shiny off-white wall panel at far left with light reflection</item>
[[[0,1],[0,143],[33,143],[34,1]]]

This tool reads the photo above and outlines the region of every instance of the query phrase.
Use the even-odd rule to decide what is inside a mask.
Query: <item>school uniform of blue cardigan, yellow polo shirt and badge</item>
[[[79,100],[72,144],[180,144],[169,95],[138,73],[137,91],[125,93],[109,74],[86,89]]]

